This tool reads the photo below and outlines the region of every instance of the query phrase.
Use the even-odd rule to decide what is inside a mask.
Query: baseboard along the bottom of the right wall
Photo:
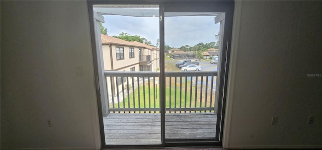
[[[258,148],[322,148],[322,145],[243,145],[243,146],[228,146],[228,148],[237,148],[237,149],[258,149]]]

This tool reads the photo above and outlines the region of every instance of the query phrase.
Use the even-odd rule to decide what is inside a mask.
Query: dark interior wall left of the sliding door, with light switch
[[[100,148],[89,29],[86,1],[1,2],[1,149]]]

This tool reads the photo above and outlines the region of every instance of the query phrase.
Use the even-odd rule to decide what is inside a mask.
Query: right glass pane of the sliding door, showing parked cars
[[[166,140],[216,139],[220,14],[165,12]]]

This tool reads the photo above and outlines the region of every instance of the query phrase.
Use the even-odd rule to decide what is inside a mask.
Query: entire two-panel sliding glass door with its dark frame
[[[88,3],[103,147],[220,145],[233,2]]]

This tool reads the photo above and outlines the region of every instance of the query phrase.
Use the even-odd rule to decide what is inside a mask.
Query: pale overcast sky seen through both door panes
[[[158,17],[104,16],[107,34],[110,36],[126,32],[139,35],[151,41],[153,45],[159,38]],[[217,41],[219,23],[214,23],[214,16],[183,16],[165,18],[166,45],[179,48],[184,45],[194,46],[199,42]]]

